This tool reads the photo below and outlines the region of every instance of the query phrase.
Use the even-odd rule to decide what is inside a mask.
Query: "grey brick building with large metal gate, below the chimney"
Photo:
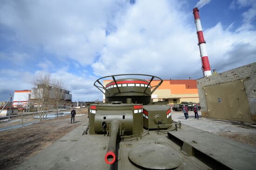
[[[202,116],[256,123],[256,62],[197,79]]]

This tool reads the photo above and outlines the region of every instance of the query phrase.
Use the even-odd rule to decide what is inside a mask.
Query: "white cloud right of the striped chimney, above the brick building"
[[[213,69],[223,72],[256,61],[256,31],[233,33],[218,23],[204,33]]]

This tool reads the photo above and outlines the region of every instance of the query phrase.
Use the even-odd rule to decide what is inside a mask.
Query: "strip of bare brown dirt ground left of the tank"
[[[68,115],[0,132],[0,169],[13,169],[81,125],[87,119],[87,108],[76,109],[76,112],[74,124],[70,124]]]

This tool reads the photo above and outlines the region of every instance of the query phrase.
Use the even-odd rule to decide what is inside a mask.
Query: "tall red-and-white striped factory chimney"
[[[211,68],[210,68],[210,64],[209,64],[208,54],[206,51],[205,40],[203,38],[202,26],[201,26],[198,8],[193,9],[193,14],[194,14],[194,18],[195,18],[195,26],[196,26],[196,31],[197,31],[198,45],[199,45],[201,61],[202,61],[203,76],[207,77],[207,76],[212,75],[212,73],[211,73]]]

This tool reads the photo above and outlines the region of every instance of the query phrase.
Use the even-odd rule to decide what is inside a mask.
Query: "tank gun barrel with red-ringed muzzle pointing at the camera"
[[[105,161],[108,164],[112,164],[115,162],[115,145],[116,145],[116,137],[119,131],[119,121],[117,119],[112,120],[110,123],[110,138],[108,143],[108,150],[105,155]]]

